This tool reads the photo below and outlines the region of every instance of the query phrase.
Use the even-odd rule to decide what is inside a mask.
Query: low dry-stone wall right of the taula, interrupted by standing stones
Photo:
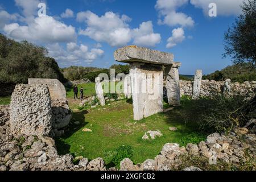
[[[224,93],[225,81],[202,80],[200,96],[210,97],[214,94]],[[256,90],[256,81],[230,82],[230,95],[246,95],[254,96]],[[180,94],[192,97],[193,81],[180,80]]]

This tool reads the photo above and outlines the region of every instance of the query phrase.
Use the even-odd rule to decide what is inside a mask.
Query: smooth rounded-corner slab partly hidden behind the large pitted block
[[[66,98],[65,86],[57,79],[28,78],[28,85],[46,84],[51,100],[63,100]]]

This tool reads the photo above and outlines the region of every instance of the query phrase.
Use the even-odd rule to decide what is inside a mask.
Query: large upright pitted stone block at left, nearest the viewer
[[[51,98],[47,85],[15,86],[10,104],[12,134],[49,135],[51,119]]]

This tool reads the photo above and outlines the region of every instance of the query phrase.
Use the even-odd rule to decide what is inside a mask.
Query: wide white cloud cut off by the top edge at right
[[[217,5],[217,16],[218,15],[240,15],[242,9],[240,5],[243,1],[247,0],[191,0],[191,4],[195,7],[203,9],[204,14],[208,15],[209,4],[216,3]]]

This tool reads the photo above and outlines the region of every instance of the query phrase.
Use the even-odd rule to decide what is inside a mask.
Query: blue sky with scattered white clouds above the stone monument
[[[243,0],[0,0],[0,32],[48,48],[60,67],[109,68],[115,49],[136,44],[174,53],[181,74],[232,64],[222,59],[224,32]],[[37,7],[46,3],[46,16]],[[217,6],[210,17],[209,3]]]

